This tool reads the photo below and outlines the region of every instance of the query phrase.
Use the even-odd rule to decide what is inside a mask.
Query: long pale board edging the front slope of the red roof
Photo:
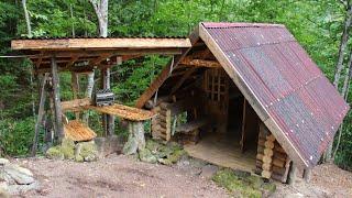
[[[268,130],[274,134],[276,140],[282,144],[286,153],[290,156],[293,161],[296,162],[297,166],[308,167],[309,164],[305,161],[299,151],[294,146],[288,136],[283,132],[283,130],[277,125],[277,123],[270,117],[268,112],[265,110],[264,105],[261,103],[260,99],[254,95],[250,86],[243,80],[240,73],[233,67],[230,59],[227,57],[224,52],[221,51],[217,42],[208,33],[206,28],[199,24],[199,36],[207,44],[208,48],[216,56],[219,63],[222,65],[224,70],[231,77],[237,87],[241,90],[245,99],[255,110],[261,120],[265,123]]]

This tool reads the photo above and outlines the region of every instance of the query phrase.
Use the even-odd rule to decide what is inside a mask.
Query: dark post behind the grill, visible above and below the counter
[[[101,88],[110,89],[110,68],[101,69]],[[111,114],[102,116],[102,124],[107,135],[114,133],[114,117]]]

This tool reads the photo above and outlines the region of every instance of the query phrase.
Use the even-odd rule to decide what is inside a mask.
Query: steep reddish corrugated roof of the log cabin
[[[349,106],[284,25],[202,23],[305,164],[314,166]]]

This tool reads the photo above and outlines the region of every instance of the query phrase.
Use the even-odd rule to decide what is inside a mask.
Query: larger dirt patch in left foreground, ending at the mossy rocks
[[[211,180],[184,169],[111,155],[95,163],[21,160],[42,188],[25,197],[228,197]]]

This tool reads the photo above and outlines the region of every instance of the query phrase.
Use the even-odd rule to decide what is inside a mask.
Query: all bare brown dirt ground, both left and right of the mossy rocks
[[[231,197],[201,176],[201,165],[188,162],[169,167],[124,155],[110,155],[94,163],[16,161],[33,170],[41,183],[40,189],[21,197]],[[320,165],[314,169],[311,183],[277,183],[272,197],[352,197],[352,173],[336,165]]]

